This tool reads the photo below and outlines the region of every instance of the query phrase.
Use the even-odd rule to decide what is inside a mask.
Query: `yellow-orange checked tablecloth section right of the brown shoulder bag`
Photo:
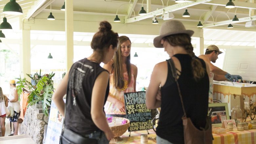
[[[213,144],[256,144],[256,130],[226,132],[213,134]]]

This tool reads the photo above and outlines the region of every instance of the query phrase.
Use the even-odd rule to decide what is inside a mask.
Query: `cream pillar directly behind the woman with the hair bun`
[[[74,22],[73,1],[65,0],[65,31],[66,31],[66,72],[74,63]]]

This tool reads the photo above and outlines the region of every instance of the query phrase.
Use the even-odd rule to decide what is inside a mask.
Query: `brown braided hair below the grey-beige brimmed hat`
[[[188,34],[179,33],[179,34],[173,34],[169,35],[163,38],[163,40],[168,41],[168,43],[171,46],[180,46],[185,49],[185,51],[188,53],[188,55],[191,56],[191,66],[192,66],[192,72],[195,81],[199,81],[201,78],[204,77],[205,69],[203,68],[202,63],[200,60],[196,59],[195,53],[193,52],[193,46],[191,44],[191,37]]]

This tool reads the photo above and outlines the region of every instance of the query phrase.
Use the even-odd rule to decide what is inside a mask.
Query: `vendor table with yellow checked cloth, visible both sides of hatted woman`
[[[153,130],[148,130],[148,144],[155,144],[154,140],[156,133]],[[213,144],[256,144],[256,130],[248,131],[228,131],[226,134],[213,134]],[[140,135],[147,134],[147,131],[131,132],[126,131],[122,136],[121,141],[110,144],[140,144]]]

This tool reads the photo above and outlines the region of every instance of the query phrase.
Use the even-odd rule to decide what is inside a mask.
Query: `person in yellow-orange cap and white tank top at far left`
[[[18,101],[19,96],[17,93],[15,80],[10,80],[10,88],[11,88],[11,93],[9,94],[8,99],[10,101],[9,104],[12,105],[13,107],[14,115],[9,119],[11,122],[13,122],[14,133],[10,134],[9,136],[18,135],[18,128],[19,128],[18,118],[20,113],[20,103]]]

